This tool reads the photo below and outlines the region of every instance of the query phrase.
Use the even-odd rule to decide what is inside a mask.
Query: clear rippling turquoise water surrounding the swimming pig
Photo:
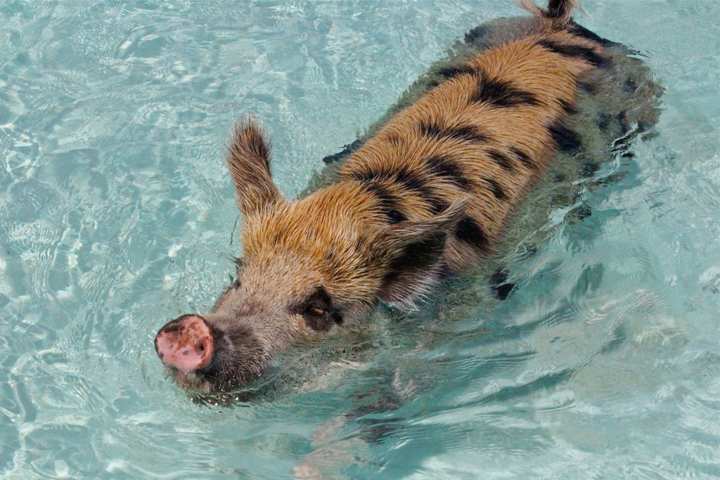
[[[0,476],[720,476],[719,4],[584,5],[667,88],[588,221],[555,209],[497,307],[379,315],[353,355],[213,404],[152,339],[233,271],[233,119],[262,119],[294,196],[517,7],[0,3]]]

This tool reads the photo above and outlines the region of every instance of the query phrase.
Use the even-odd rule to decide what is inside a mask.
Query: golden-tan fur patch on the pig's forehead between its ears
[[[359,186],[347,185],[293,203],[278,203],[249,217],[243,230],[246,257],[264,258],[268,265],[288,255],[294,260],[294,267],[287,268],[287,279],[258,282],[258,293],[276,291],[279,284],[318,284],[333,293],[342,292],[341,301],[370,302],[378,279],[361,253],[372,242],[373,232],[367,232],[366,225],[379,224],[373,207],[373,199]],[[258,276],[266,277],[266,273],[258,272]],[[303,292],[287,293],[299,296]]]

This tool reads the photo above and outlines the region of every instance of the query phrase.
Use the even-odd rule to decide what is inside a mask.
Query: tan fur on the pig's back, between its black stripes
[[[554,33],[549,38],[571,45],[593,47],[590,42],[565,32]],[[559,101],[568,104],[575,101],[575,79],[590,68],[587,63],[567,59],[539,47],[536,40],[539,37],[528,37],[492,48],[478,55],[469,65],[482,68],[489,76],[512,81],[518,88],[536,94],[544,104],[543,107],[522,105],[497,109],[487,104],[468,106],[467,97],[472,94],[477,82],[472,76],[452,78],[400,112],[352,155],[341,170],[343,182],[331,188],[350,189],[350,184],[354,182],[349,180],[348,174],[366,167],[374,170],[389,168],[391,171],[408,167],[423,175],[422,164],[428,155],[454,155],[459,158],[459,166],[469,178],[490,176],[498,181],[508,192],[508,201],[495,199],[490,191],[483,188],[482,182],[478,182],[477,188],[472,191],[459,191],[442,179],[428,178],[430,184],[444,199],[453,200],[469,194],[472,201],[468,213],[485,227],[491,239],[497,238],[513,205],[520,201],[532,185],[538,171],[516,162],[515,171],[510,174],[487,157],[487,149],[495,148],[512,156],[508,148],[521,148],[544,166],[554,155],[546,123],[564,115]],[[487,132],[494,141],[487,145],[474,145],[459,140],[422,137],[418,135],[417,125],[423,119],[431,119],[446,126],[474,124]],[[391,136],[399,137],[402,142],[399,145],[389,142]],[[387,188],[403,199],[411,219],[428,217],[428,212],[420,207],[419,202],[413,203],[417,199],[398,191],[397,187],[397,184],[387,182]],[[452,268],[464,268],[472,264],[473,255],[468,255],[467,249],[453,242],[449,245],[447,257]]]

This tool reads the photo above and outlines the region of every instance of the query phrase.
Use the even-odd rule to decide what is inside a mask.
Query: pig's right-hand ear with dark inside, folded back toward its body
[[[415,308],[415,299],[428,294],[447,273],[443,253],[448,235],[464,212],[458,201],[427,220],[389,225],[378,238],[389,263],[378,297],[402,308]]]

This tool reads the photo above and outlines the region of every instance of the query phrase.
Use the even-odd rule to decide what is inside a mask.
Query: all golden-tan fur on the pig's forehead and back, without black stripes
[[[277,279],[273,284],[261,281],[263,286],[258,287],[258,293],[264,289],[276,291],[278,283],[287,281],[297,285],[322,284],[347,307],[372,304],[390,261],[387,252],[392,248],[385,245],[387,239],[382,232],[388,230],[387,218],[378,199],[363,188],[363,182],[353,178],[354,173],[368,170],[392,172],[405,168],[423,178],[436,196],[449,204],[469,198],[465,213],[482,227],[491,247],[514,206],[555,153],[547,125],[562,120],[563,103],[572,105],[575,101],[575,81],[593,68],[579,58],[565,57],[537,45],[538,40],[601,50],[599,45],[564,31],[492,47],[472,58],[468,65],[481,69],[489,78],[509,81],[533,94],[539,104],[496,108],[472,103],[469,98],[477,89],[477,78],[472,75],[450,78],[397,114],[354,153],[341,169],[338,183],[292,203],[276,201],[274,194],[263,192],[272,201],[259,214],[246,219],[243,232],[246,256],[265,258],[264,262],[270,265],[273,259],[292,255],[296,266],[287,271],[287,279]],[[418,124],[423,121],[444,127],[474,125],[492,140],[473,143],[420,135]],[[249,124],[240,127],[240,131],[253,128]],[[242,141],[236,136],[236,146],[231,151],[245,150],[243,145],[237,145]],[[514,160],[512,148],[526,153],[537,168]],[[513,169],[508,171],[492,160],[488,156],[491,149],[513,160]],[[459,189],[446,178],[428,173],[424,162],[435,154],[456,158],[464,176],[474,181],[473,188]],[[233,171],[235,162],[229,163]],[[498,200],[480,178],[497,182],[508,198]],[[374,183],[397,199],[397,207],[408,221],[433,217],[416,192],[402,189],[394,181]],[[242,195],[247,194],[243,191]],[[472,266],[484,253],[487,252],[449,237],[444,257],[450,268],[459,269]],[[290,296],[300,293],[287,291]]]

